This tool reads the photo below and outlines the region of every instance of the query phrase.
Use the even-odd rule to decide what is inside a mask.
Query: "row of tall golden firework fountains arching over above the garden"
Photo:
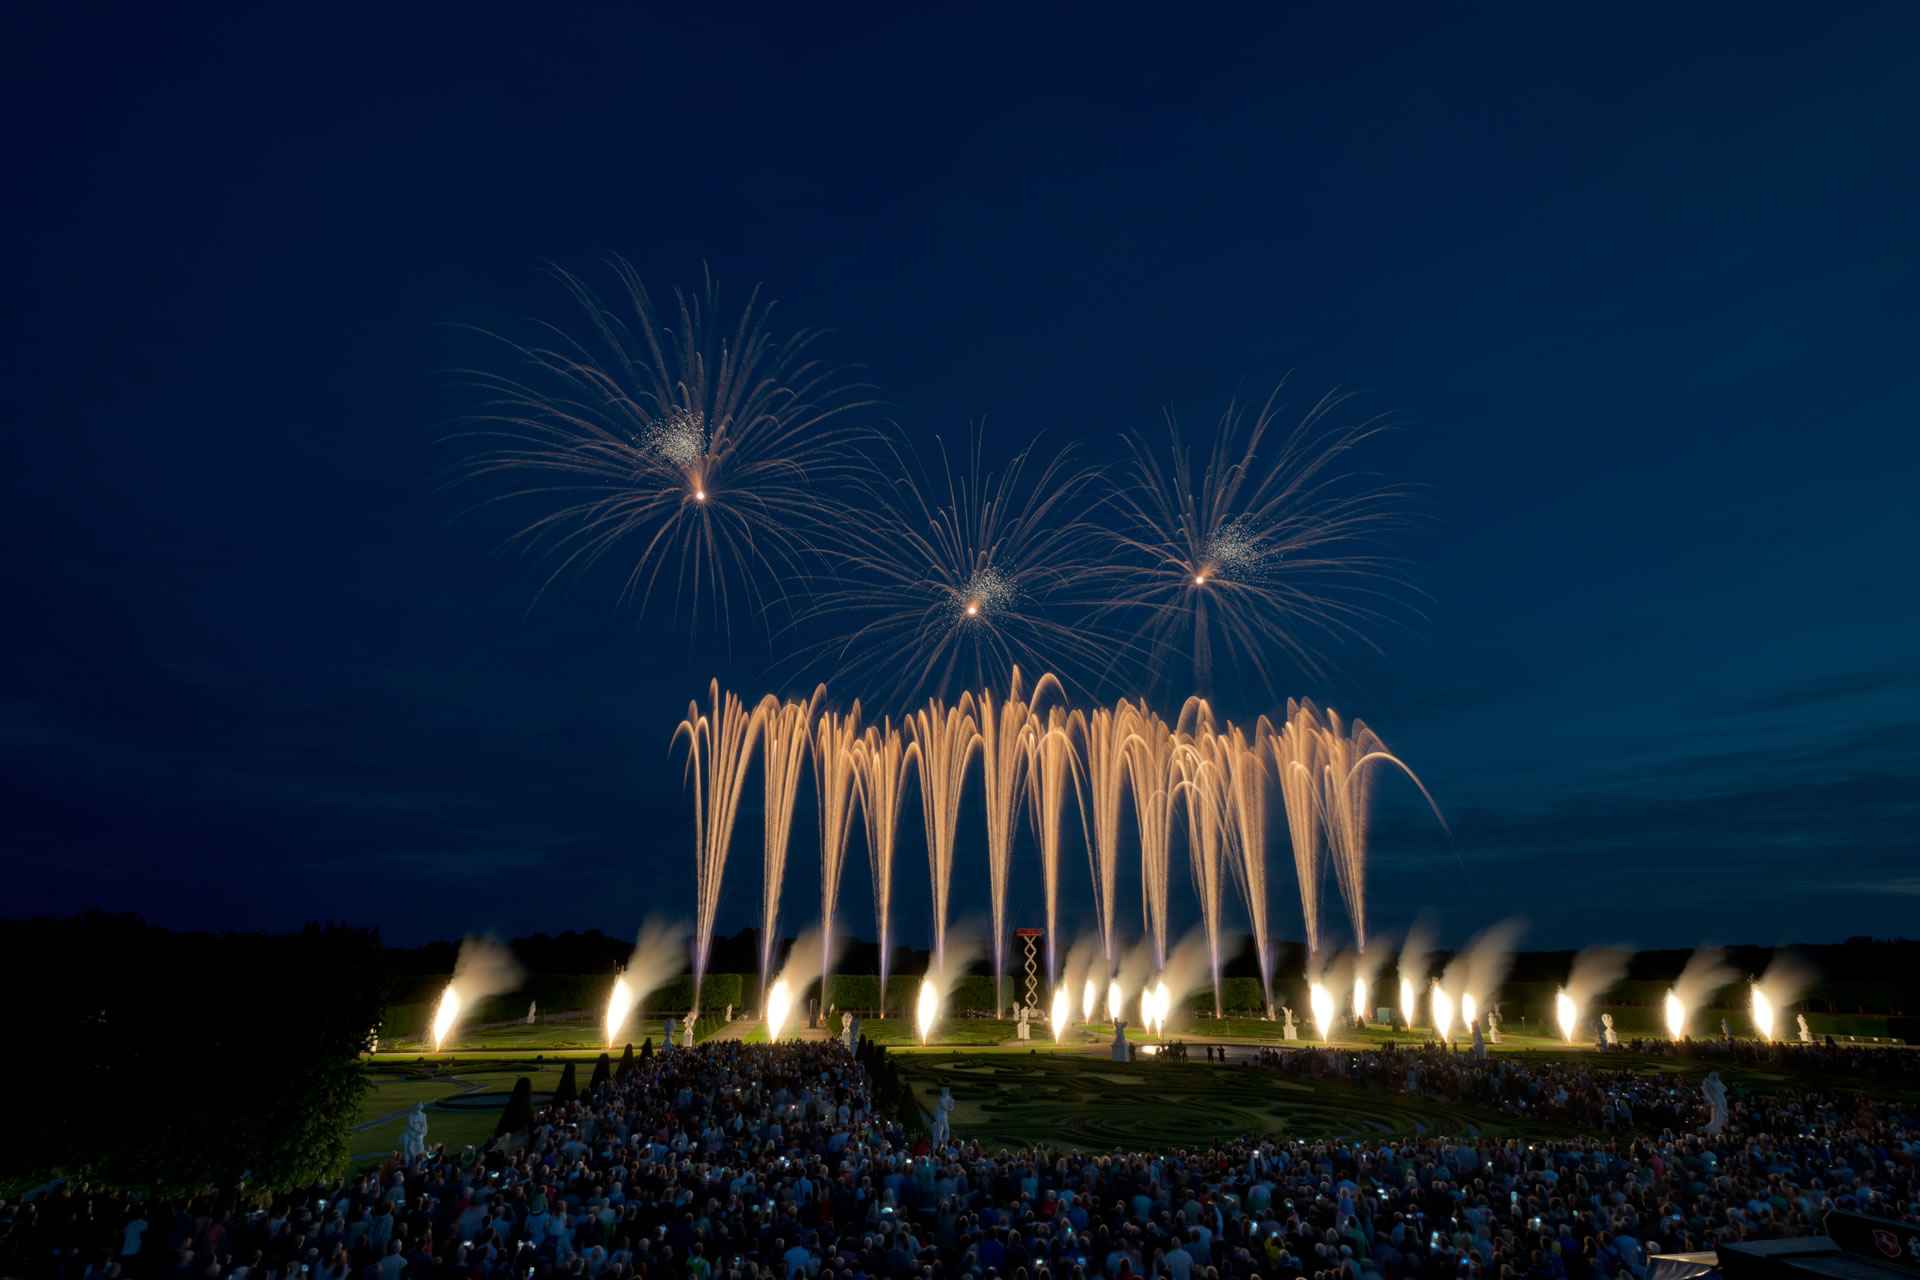
[[[1365,723],[1344,722],[1311,702],[1288,702],[1284,720],[1273,723],[1261,716],[1246,731],[1231,722],[1217,722],[1204,699],[1188,699],[1179,718],[1167,723],[1144,700],[1087,710],[1068,706],[1058,679],[1043,676],[1027,689],[1018,668],[1004,693],[968,691],[954,702],[929,699],[899,722],[887,716],[866,723],[858,702],[845,714],[824,710],[824,702],[826,687],[806,700],[766,697],[749,704],[714,681],[707,708],[691,702],[687,718],[674,731],[674,745],[685,748],[695,800],[695,994],[707,969],[735,816],[756,750],[766,789],[760,936],[780,936],[780,894],[793,806],[801,768],[810,762],[820,812],[822,919],[820,954],[808,958],[808,977],[831,969],[829,944],[835,936],[841,869],[852,831],[860,825],[874,881],[881,1002],[893,938],[893,848],[906,808],[908,775],[916,775],[929,864],[933,956],[927,984],[935,988],[935,1006],[966,967],[948,946],[948,894],[960,802],[973,779],[985,800],[995,983],[1002,1007],[1006,898],[1016,835],[1021,825],[1029,825],[1039,846],[1046,904],[1046,979],[1050,986],[1058,986],[1054,979],[1062,977],[1062,967],[1056,938],[1068,808],[1079,816],[1075,825],[1092,881],[1098,967],[1104,967],[1104,979],[1094,973],[1092,961],[1083,961],[1068,965],[1068,981],[1060,988],[1085,986],[1089,1011],[1098,992],[1162,990],[1144,977],[1179,971],[1194,981],[1175,983],[1181,988],[1175,996],[1212,981],[1213,1009],[1219,1013],[1223,915],[1231,881],[1252,925],[1271,1017],[1271,796],[1279,794],[1286,816],[1309,956],[1321,950],[1321,871],[1327,865],[1332,867],[1357,952],[1365,954],[1367,812],[1379,768],[1390,766],[1405,773],[1427,796],[1413,771]],[[1146,956],[1137,965],[1142,969],[1140,981],[1129,983],[1119,981],[1127,963],[1119,954],[1121,927],[1116,919],[1125,794],[1133,798],[1133,846],[1139,852],[1146,936]],[[1432,806],[1432,796],[1427,802]],[[860,823],[854,821],[856,812]],[[1434,816],[1438,814],[1434,806]],[[1167,887],[1179,827],[1185,829],[1188,871],[1200,902],[1200,925],[1192,942],[1198,952],[1173,948],[1169,954]],[[1187,963],[1183,952],[1194,956],[1194,961]],[[764,990],[778,986],[766,984],[770,965],[768,948],[760,956]],[[1114,994],[1110,1004],[1117,1007],[1119,1000],[1121,994]]]

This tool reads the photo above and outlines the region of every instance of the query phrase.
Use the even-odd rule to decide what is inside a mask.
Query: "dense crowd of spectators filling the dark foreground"
[[[1196,1071],[1210,1067],[1194,1065]],[[1657,1251],[1920,1221],[1908,1115],[1692,1098],[1607,1071],[1444,1050],[1302,1050],[1217,1071],[1336,1075],[1594,1136],[1275,1142],[1183,1151],[943,1150],[877,1115],[839,1044],[710,1042],[636,1063],[532,1132],[332,1186],[0,1207],[0,1276],[58,1280],[1645,1280]],[[1611,1107],[1611,1121],[1609,1111]],[[1596,1115],[1599,1117],[1596,1121]],[[1613,1128],[1613,1134],[1603,1130]]]

